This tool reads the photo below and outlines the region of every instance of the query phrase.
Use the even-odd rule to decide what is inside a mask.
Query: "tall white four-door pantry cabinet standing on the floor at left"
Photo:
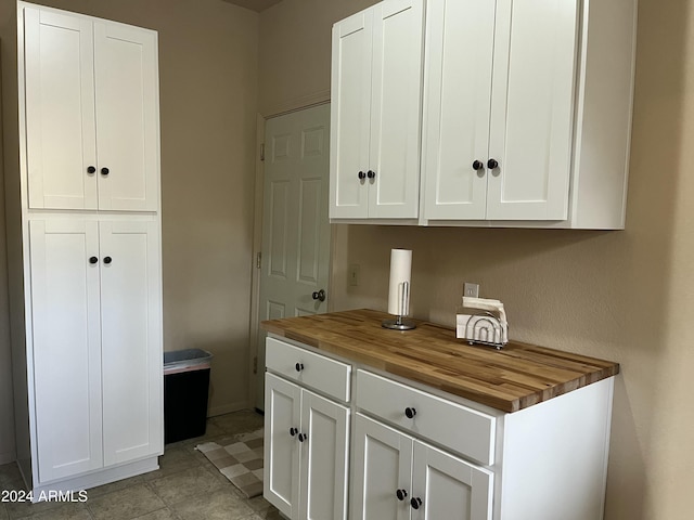
[[[163,453],[157,35],[24,2],[17,31],[8,235],[17,458],[36,500]]]

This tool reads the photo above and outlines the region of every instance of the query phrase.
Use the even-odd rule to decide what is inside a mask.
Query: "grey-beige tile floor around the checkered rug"
[[[0,520],[279,520],[273,506],[261,496],[247,499],[195,450],[261,426],[252,411],[213,417],[205,437],[167,444],[157,471],[88,490],[83,504],[0,503]],[[0,466],[0,490],[20,489],[17,466]]]

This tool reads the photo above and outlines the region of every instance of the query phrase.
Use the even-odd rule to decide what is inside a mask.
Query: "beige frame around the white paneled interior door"
[[[256,392],[256,379],[260,377],[265,367],[257,366],[258,360],[258,336],[260,327],[260,266],[258,265],[258,255],[262,250],[262,216],[264,216],[264,190],[265,190],[265,129],[266,122],[272,117],[284,116],[295,112],[305,110],[314,106],[330,103],[330,91],[318,93],[314,96],[297,100],[296,103],[275,107],[277,112],[271,110],[264,115],[256,115],[256,166],[255,166],[255,194],[254,194],[254,216],[253,216],[253,258],[252,258],[252,275],[250,275],[250,323],[248,324],[248,405],[255,410],[259,410],[258,395]],[[335,224],[330,224],[330,259],[327,261],[327,287],[330,291],[334,286],[333,276],[333,257],[335,255]],[[332,312],[333,299],[327,298],[327,312]]]

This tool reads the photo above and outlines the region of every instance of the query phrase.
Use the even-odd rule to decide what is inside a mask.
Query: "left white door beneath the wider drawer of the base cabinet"
[[[357,414],[351,519],[409,519],[411,474],[412,438]]]

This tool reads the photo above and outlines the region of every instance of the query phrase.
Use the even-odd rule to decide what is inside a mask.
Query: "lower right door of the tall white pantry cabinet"
[[[100,222],[104,465],[163,451],[155,222]]]

